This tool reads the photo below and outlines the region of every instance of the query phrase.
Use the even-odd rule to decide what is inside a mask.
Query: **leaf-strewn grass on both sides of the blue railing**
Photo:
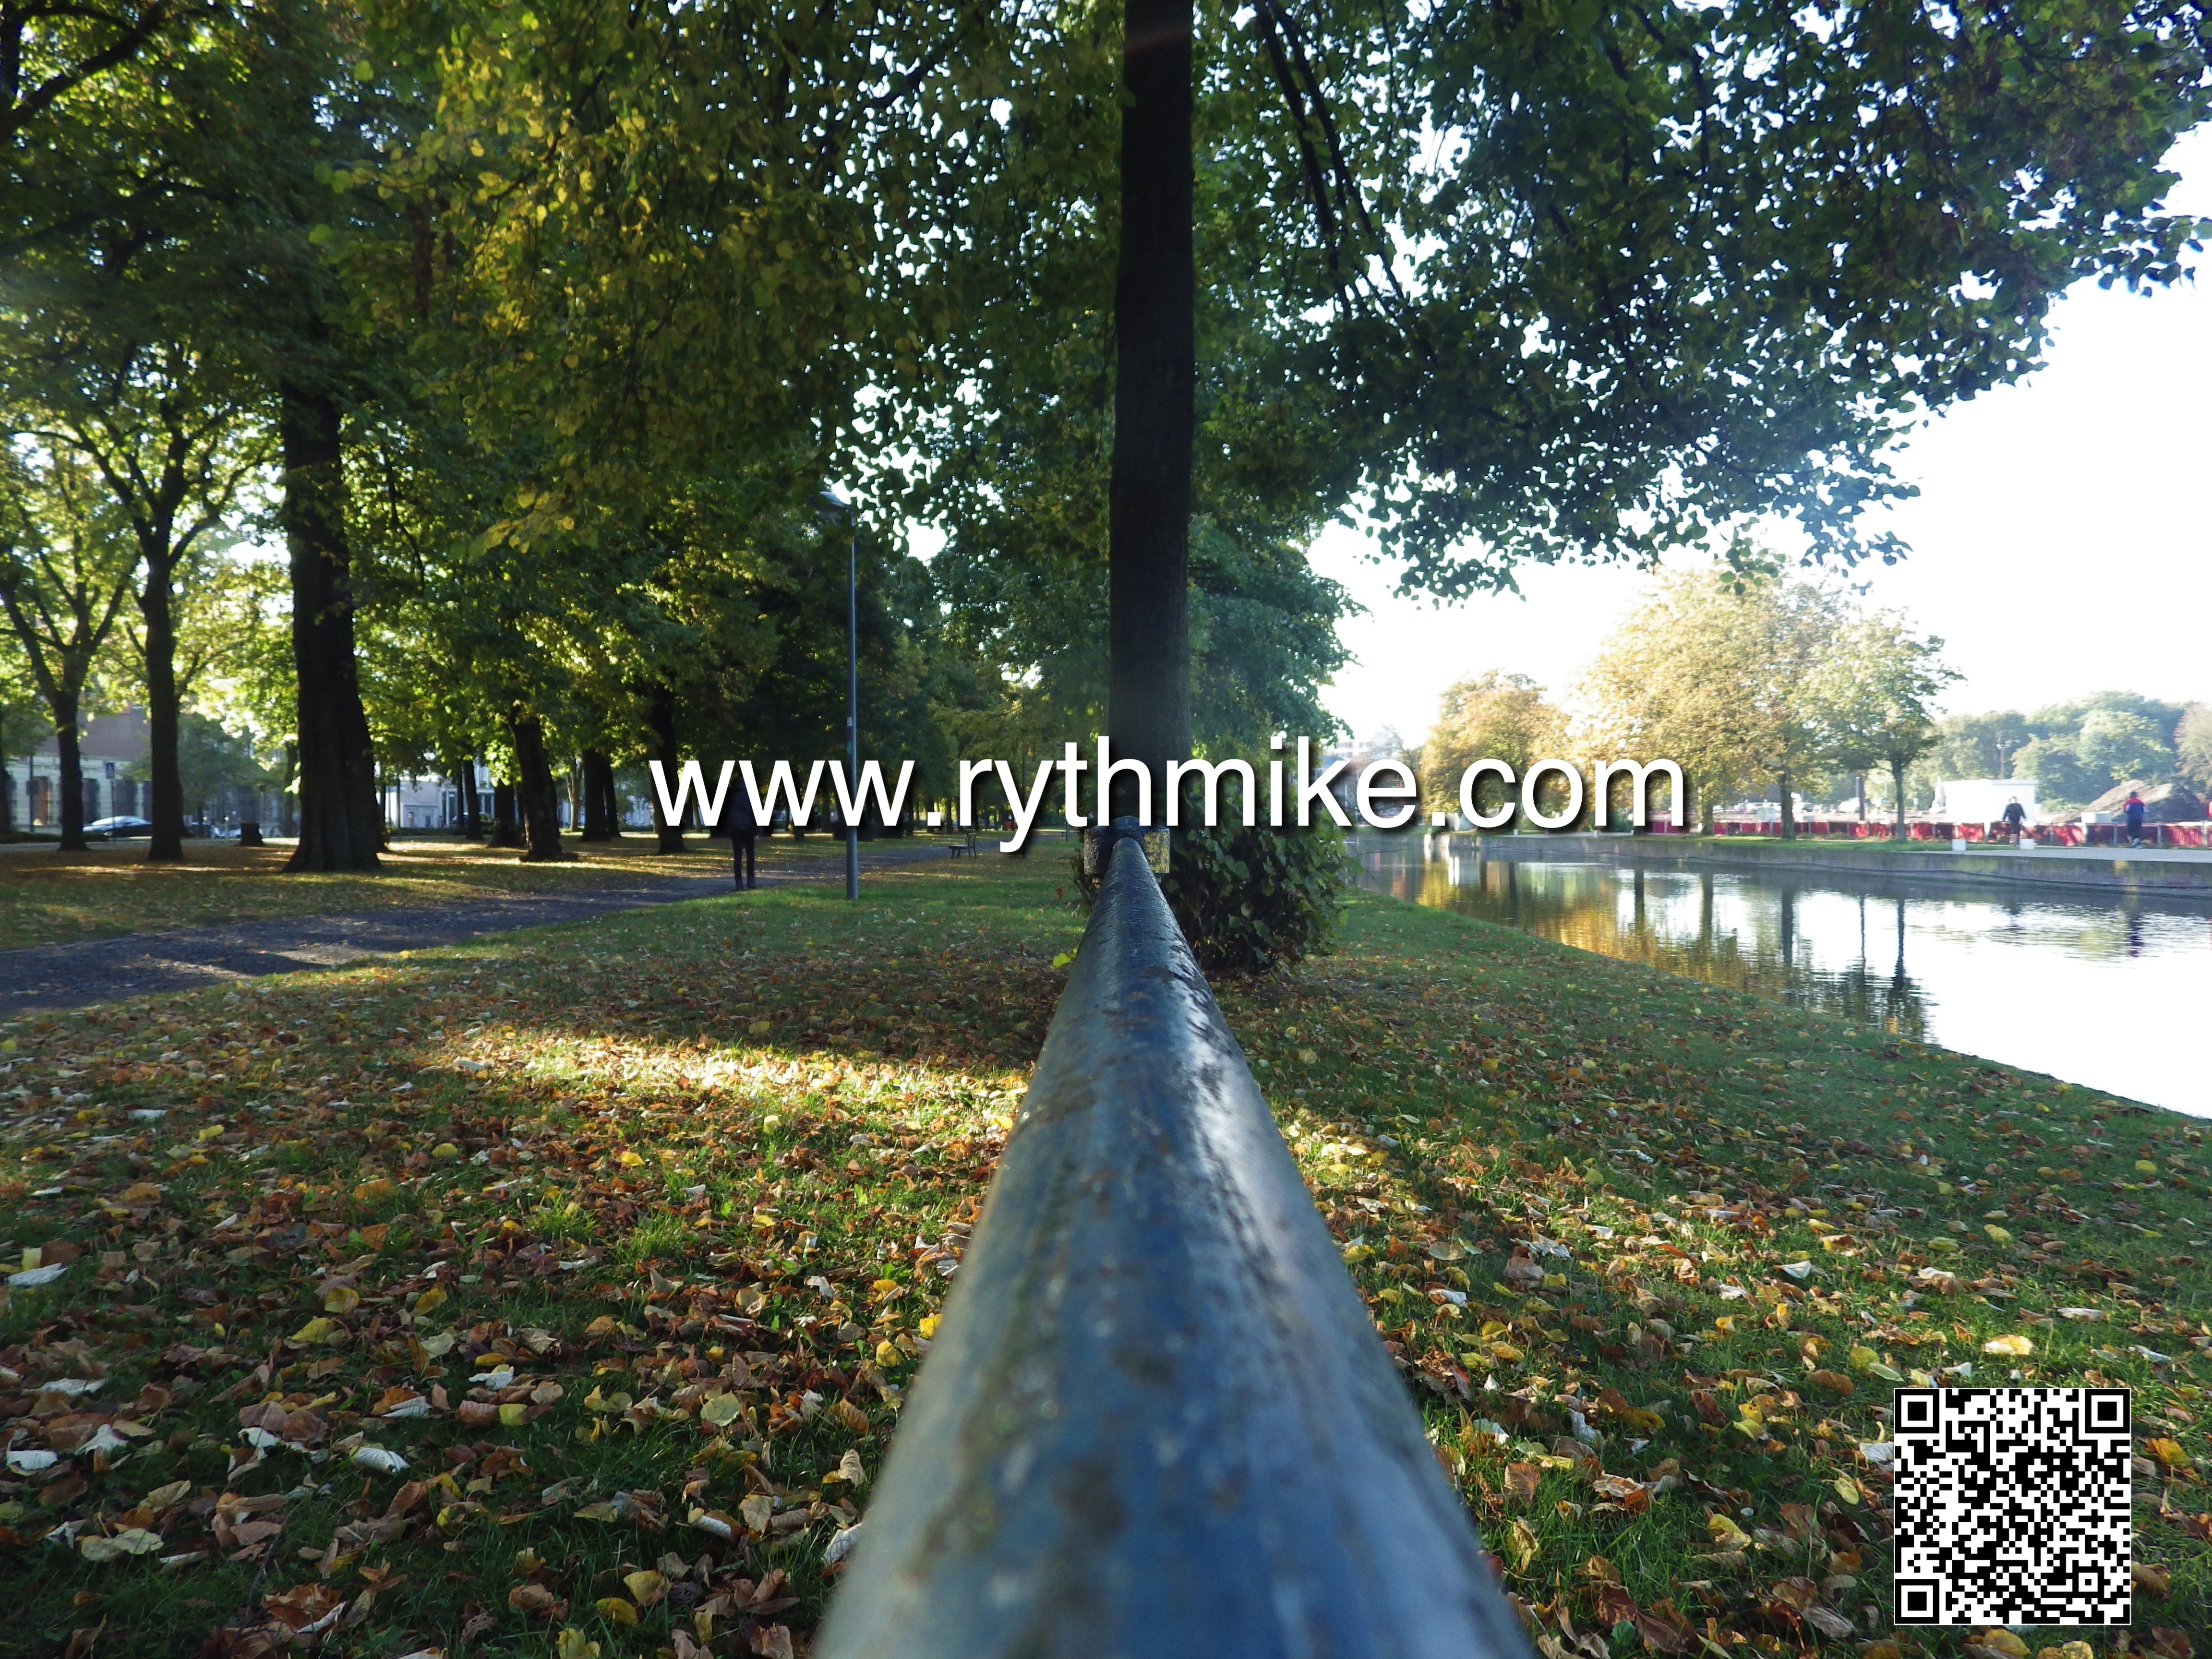
[[[1062,889],[947,860],[0,1024],[0,1245],[64,1265],[0,1312],[18,1639],[803,1652]],[[1863,1453],[1958,1367],[2132,1387],[2130,1650],[2212,1619],[2188,1119],[1374,898],[1223,1006],[1546,1655],[1964,1652],[1889,1630]],[[2026,1650],[2070,1637],[2119,1650]]]

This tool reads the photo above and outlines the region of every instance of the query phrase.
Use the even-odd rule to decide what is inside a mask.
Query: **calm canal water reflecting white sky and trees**
[[[1363,834],[1360,885],[2212,1117],[2212,900],[2015,896]]]

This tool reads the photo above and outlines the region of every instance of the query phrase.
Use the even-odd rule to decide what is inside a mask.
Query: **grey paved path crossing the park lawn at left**
[[[945,858],[938,845],[872,847],[860,869]],[[843,880],[843,858],[761,865],[761,887],[805,880]],[[728,894],[728,876],[648,876],[611,880],[571,894],[518,894],[471,905],[407,905],[349,916],[290,916],[265,922],[226,922],[170,933],[126,933],[80,945],[35,945],[0,951],[0,1015],[31,1009],[82,1009],[93,1002],[192,991],[226,980],[301,969],[345,967],[369,956],[458,945],[484,933],[580,922],[622,909],[668,905],[681,898]]]

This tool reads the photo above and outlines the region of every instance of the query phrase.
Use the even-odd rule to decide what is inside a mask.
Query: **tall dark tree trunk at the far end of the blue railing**
[[[1190,0],[1128,0],[1121,38],[1121,254],[1106,487],[1106,734],[1152,770],[1190,757],[1190,440],[1197,385]],[[1113,814],[1137,810],[1115,779]]]

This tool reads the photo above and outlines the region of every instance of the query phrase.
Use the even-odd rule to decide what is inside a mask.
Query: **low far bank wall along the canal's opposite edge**
[[[2212,898],[2212,852],[2110,847],[1973,847],[1869,841],[1765,841],[1752,836],[1429,836],[1436,856],[1555,858],[1644,869],[1801,872],[1827,878],[1878,876],[1913,883],[2004,883],[2044,891]]]

